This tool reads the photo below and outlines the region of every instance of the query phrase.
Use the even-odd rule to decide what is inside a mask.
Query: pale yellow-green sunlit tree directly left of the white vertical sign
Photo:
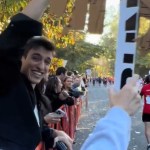
[[[119,16],[118,14],[114,15],[111,22],[107,25],[107,32],[103,34],[100,46],[103,48],[104,53],[100,55],[100,60],[104,59],[107,61],[107,65],[103,65],[105,70],[104,72],[109,75],[114,74],[114,65],[115,65],[115,58],[116,58],[116,44],[117,44],[117,35],[118,35],[118,21]],[[105,69],[106,68],[106,69]],[[108,70],[109,68],[109,70]]]

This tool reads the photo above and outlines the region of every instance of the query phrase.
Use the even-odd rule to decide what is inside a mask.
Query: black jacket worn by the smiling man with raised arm
[[[41,33],[41,23],[18,14],[0,35],[0,149],[35,150],[41,140],[35,92],[20,73],[23,46]]]

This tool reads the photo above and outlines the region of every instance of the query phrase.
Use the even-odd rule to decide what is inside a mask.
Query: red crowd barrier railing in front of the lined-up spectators
[[[75,104],[73,106],[61,106],[60,109],[66,112],[66,117],[61,118],[61,121],[57,124],[49,124],[49,127],[57,130],[62,130],[66,132],[72,139],[75,139],[75,131],[81,115],[83,102],[85,103],[85,108],[87,109],[87,92],[84,95],[84,97],[75,99]],[[45,150],[44,144],[41,142],[36,148],[36,150]]]

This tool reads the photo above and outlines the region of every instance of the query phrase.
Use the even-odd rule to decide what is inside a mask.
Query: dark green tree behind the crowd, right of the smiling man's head
[[[99,57],[102,53],[104,53],[102,47],[83,40],[76,42],[74,46],[68,46],[57,51],[58,57],[68,60],[66,67],[69,70],[77,69],[79,71],[87,68],[84,62],[90,60],[92,57]]]

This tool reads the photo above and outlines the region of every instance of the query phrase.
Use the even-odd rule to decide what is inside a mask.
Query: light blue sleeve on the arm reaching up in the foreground
[[[123,109],[113,107],[98,121],[81,150],[127,150],[130,130],[129,115]]]

